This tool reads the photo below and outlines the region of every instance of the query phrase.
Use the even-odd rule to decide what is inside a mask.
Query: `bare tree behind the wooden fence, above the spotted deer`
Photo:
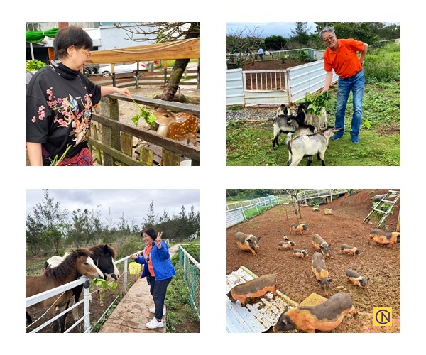
[[[134,41],[148,40],[149,35],[157,35],[157,43],[200,38],[200,22],[138,22],[133,28],[124,28],[121,23],[114,23],[114,26],[126,31],[128,39]],[[138,36],[146,37],[138,38]],[[162,100],[173,101],[190,59],[175,60],[173,70],[161,94]]]

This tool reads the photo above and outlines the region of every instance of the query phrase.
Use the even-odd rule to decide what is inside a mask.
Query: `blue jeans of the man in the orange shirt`
[[[344,133],[344,114],[349,94],[352,90],[352,104],[354,114],[352,115],[351,136],[358,137],[359,127],[361,126],[362,99],[364,98],[364,70],[359,70],[355,75],[343,79],[339,77],[337,83],[337,104],[336,104],[336,129],[340,129],[336,135],[343,136]]]

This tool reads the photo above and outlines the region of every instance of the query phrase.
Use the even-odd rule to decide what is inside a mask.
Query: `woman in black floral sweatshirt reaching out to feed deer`
[[[55,60],[35,73],[26,92],[28,158],[31,165],[92,166],[92,107],[104,95],[130,97],[130,92],[101,87],[82,74],[92,49],[92,38],[82,28],[61,28],[53,47]]]

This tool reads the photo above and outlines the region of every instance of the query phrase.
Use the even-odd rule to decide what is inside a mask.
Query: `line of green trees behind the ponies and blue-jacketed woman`
[[[119,222],[114,222],[111,215],[102,216],[97,209],[75,209],[70,214],[50,197],[48,190],[43,190],[43,200],[26,216],[26,244],[33,255],[41,250],[58,255],[65,245],[113,244],[131,236],[140,237],[141,230],[148,226],[163,231],[163,239],[182,241],[200,230],[200,212],[194,206],[187,212],[182,206],[178,215],[170,216],[167,209],[156,214],[152,200],[140,224],[129,224],[124,213]]]

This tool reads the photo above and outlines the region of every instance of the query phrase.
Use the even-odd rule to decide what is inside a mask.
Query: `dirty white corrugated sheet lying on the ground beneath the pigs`
[[[249,269],[241,266],[237,271],[226,276],[226,293],[236,285],[253,280],[257,276]],[[268,292],[260,301],[242,307],[239,301],[231,302],[226,296],[226,331],[228,333],[263,333],[273,327],[286,305],[297,307],[297,303],[289,300],[277,290]],[[256,299],[257,300],[257,299]]]

